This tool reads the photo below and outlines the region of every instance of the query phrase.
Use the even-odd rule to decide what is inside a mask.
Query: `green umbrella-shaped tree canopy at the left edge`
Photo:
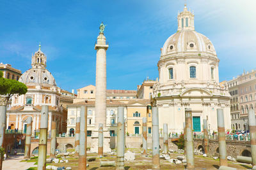
[[[3,78],[3,72],[0,71],[0,94],[7,96],[9,100],[14,94],[26,94],[28,87],[19,81]]]

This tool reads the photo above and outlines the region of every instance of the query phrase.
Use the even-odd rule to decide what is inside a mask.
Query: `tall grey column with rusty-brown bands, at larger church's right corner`
[[[228,166],[223,109],[217,109],[220,166]]]

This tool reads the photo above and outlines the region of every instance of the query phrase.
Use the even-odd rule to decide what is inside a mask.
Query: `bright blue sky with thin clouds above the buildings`
[[[255,69],[256,1],[187,1],[195,30],[211,39],[220,59],[220,81]],[[164,41],[177,31],[184,1],[3,1],[0,6],[0,62],[22,73],[41,49],[47,69],[62,89],[95,85],[94,43],[107,24],[107,88],[136,89],[158,76]]]

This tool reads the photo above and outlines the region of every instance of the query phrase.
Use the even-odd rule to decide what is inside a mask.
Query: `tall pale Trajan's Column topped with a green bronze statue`
[[[104,28],[106,25],[100,24],[100,33],[95,43],[95,50],[97,50],[96,59],[96,99],[95,99],[95,129],[92,132],[92,152],[98,152],[98,136],[99,123],[103,124],[103,151],[111,152],[109,148],[110,136],[106,127],[106,51],[108,50],[108,43],[104,36]]]

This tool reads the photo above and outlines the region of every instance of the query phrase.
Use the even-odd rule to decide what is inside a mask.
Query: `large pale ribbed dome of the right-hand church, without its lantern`
[[[206,52],[216,55],[210,39],[191,29],[184,29],[170,36],[164,43],[161,55],[180,52]]]

